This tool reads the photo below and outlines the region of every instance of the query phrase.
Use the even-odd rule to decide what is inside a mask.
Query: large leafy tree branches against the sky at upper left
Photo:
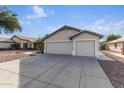
[[[6,7],[0,7],[0,33],[11,34],[21,30],[17,14]]]

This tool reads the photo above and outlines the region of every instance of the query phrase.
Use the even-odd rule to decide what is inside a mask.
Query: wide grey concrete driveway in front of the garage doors
[[[0,87],[111,88],[95,58],[41,55],[0,63]]]

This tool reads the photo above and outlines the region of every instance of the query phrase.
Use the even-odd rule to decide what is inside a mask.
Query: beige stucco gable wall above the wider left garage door
[[[79,33],[75,30],[62,30],[47,38],[45,41],[69,40],[69,37]]]

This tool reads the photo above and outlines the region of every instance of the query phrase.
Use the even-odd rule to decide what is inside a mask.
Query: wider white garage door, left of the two
[[[47,42],[46,53],[71,54],[72,42]]]

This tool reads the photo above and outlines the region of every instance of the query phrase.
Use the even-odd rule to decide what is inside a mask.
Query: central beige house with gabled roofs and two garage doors
[[[102,35],[71,26],[63,26],[44,38],[44,53],[99,56]]]

